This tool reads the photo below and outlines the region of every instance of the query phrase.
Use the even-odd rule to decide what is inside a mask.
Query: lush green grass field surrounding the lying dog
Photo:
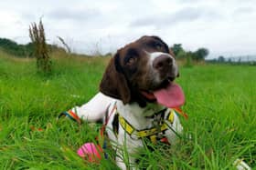
[[[53,74],[45,76],[35,60],[0,52],[0,169],[117,169],[112,157],[94,165],[76,154],[98,135],[95,125],[57,121],[97,93],[108,60],[53,54]],[[256,67],[181,66],[180,75],[189,116],[181,121],[191,139],[144,149],[138,167],[235,169],[240,158],[256,168]]]

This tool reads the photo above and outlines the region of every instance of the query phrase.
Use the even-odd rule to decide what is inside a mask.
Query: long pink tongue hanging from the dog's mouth
[[[173,83],[170,83],[166,88],[156,90],[154,95],[157,102],[166,107],[179,107],[185,103],[185,96],[182,88]]]

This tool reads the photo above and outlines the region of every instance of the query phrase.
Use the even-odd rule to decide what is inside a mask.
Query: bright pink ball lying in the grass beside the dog
[[[89,162],[99,162],[99,160],[101,160],[102,152],[103,151],[99,145],[85,143],[84,145],[80,146],[78,155],[87,159]]]

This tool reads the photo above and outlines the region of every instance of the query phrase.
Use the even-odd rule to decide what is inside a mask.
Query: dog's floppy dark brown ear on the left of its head
[[[100,91],[127,104],[131,100],[131,92],[127,80],[120,71],[119,53],[111,59],[101,79]]]

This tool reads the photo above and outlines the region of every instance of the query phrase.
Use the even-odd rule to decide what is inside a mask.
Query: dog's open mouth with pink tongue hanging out
[[[155,91],[142,91],[141,93],[149,101],[156,100],[158,104],[170,108],[179,107],[185,103],[185,95],[182,88],[172,81],[168,81],[167,85]]]

